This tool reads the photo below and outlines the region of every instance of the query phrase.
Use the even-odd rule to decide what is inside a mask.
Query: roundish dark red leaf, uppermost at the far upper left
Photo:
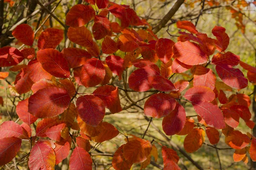
[[[20,24],[12,31],[13,37],[25,45],[32,46],[34,42],[34,31],[28,24]]]

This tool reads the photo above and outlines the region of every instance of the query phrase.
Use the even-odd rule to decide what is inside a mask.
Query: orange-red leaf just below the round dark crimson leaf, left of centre
[[[108,141],[113,139],[119,134],[119,131],[108,122],[102,122],[101,131],[99,135],[92,137],[92,140],[97,143],[102,143],[104,141]]]

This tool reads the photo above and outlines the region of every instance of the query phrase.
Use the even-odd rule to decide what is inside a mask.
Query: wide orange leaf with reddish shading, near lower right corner
[[[250,143],[250,138],[239,130],[233,130],[226,138],[225,143],[234,149],[242,149]]]

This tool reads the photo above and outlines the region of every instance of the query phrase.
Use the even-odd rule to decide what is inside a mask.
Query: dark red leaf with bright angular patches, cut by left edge
[[[14,47],[6,46],[0,48],[0,67],[17,65],[24,59],[22,53]]]

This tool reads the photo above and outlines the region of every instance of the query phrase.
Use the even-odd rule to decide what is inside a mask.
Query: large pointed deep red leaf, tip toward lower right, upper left
[[[70,76],[67,59],[61,52],[54,49],[40,50],[37,53],[37,59],[49,74],[59,78]]]

